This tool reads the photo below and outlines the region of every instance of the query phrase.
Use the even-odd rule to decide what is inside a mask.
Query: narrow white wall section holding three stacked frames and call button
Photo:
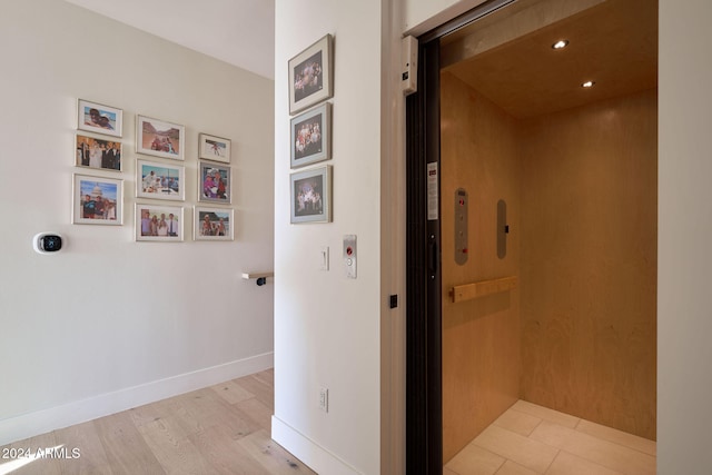
[[[276,2],[273,437],[318,473],[379,473],[380,23],[377,0]],[[326,33],[335,39],[334,220],[290,225],[287,63]],[[355,280],[344,271],[348,234],[358,239]],[[322,246],[328,271],[318,270]]]

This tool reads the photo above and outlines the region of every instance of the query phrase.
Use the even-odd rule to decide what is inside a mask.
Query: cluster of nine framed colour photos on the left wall
[[[199,132],[198,150],[186,150],[186,127],[144,115],[136,116],[136,174],[126,177],[127,150],[122,141],[123,110],[78,99],[72,224],[122,226],[125,179],[134,181],[136,241],[181,243],[235,239],[231,140]],[[197,184],[187,182],[186,164],[198,168]],[[186,202],[196,187],[200,201]],[[205,206],[204,206],[205,205]]]

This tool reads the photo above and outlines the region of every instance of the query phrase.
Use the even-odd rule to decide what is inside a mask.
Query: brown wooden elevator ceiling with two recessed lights
[[[596,3],[444,70],[516,118],[656,87],[657,2],[606,0]],[[501,11],[502,22],[512,19],[504,14],[505,10]],[[521,23],[522,14],[517,17],[515,20]],[[500,29],[504,24],[492,20],[487,23],[487,27],[494,24]],[[467,27],[469,31],[458,31],[454,39],[443,41],[443,48],[452,49],[455,43],[466,41],[469,34],[477,34],[481,27],[475,22]],[[567,39],[568,47],[552,49],[558,39]],[[483,39],[477,39],[476,43],[482,44]],[[595,81],[595,86],[582,88],[581,83],[587,80]]]

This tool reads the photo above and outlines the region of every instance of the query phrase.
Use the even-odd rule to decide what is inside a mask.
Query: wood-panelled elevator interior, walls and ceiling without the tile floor
[[[422,44],[409,105],[438,174],[431,462],[520,399],[655,439],[657,3],[491,10]]]

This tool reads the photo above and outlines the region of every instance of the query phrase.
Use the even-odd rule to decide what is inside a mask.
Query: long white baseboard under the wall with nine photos
[[[274,353],[226,363],[0,420],[0,445],[274,367]]]

